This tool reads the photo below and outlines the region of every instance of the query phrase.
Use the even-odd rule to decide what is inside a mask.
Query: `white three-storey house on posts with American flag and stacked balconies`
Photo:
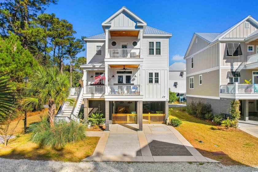
[[[126,7],[101,26],[104,33],[84,38],[87,43],[87,64],[81,66],[84,87],[78,91],[76,108],[72,108],[70,115],[78,115],[83,101],[84,119],[101,111],[107,131],[112,123],[137,123],[139,130],[143,129],[143,123],[164,123],[168,117],[172,34],[147,26],[147,22]],[[102,74],[106,79],[93,84],[94,77]],[[149,114],[163,115],[154,119]],[[74,115],[71,118],[76,118]]]

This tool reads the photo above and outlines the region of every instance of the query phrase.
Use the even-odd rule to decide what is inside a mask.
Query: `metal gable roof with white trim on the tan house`
[[[187,51],[186,51],[186,54],[185,54],[185,57],[184,57],[184,59],[187,57],[186,55],[189,53],[189,51],[190,51],[190,48],[191,48],[191,46],[192,46],[192,44],[193,44],[193,40],[194,40],[194,38],[196,37],[196,35],[198,35],[198,36],[200,36],[201,38],[203,38],[203,39],[205,39],[206,41],[208,41],[209,42],[209,45],[208,46],[210,46],[211,44],[213,44],[213,43],[215,43],[215,42],[217,42],[217,41],[220,41],[223,37],[225,37],[225,35],[227,35],[229,32],[231,32],[233,29],[235,29],[237,26],[239,26],[240,24],[242,24],[243,22],[245,22],[246,20],[249,20],[250,22],[252,22],[253,24],[255,24],[257,27],[258,27],[258,22],[254,19],[254,18],[252,18],[252,16],[247,16],[246,18],[244,18],[243,20],[241,20],[240,22],[238,22],[238,23],[236,23],[235,25],[233,25],[233,26],[231,26],[229,29],[227,29],[227,30],[225,30],[224,32],[222,32],[222,33],[194,33],[193,34],[193,37],[192,37],[192,40],[191,40],[191,42],[190,42],[190,45],[188,46],[188,49],[187,49]],[[257,29],[258,30],[258,29]],[[257,31],[256,30],[256,31]],[[255,31],[255,32],[256,32]],[[248,35],[248,37],[250,38],[250,37],[252,37],[252,36],[254,36],[254,35],[256,35],[258,33],[258,31],[256,32],[256,33],[252,33],[251,34],[251,36],[250,35]],[[215,37],[215,35],[217,35],[216,37]],[[248,37],[246,37],[246,38],[248,38]],[[255,37],[255,36],[254,36]],[[245,38],[245,39],[246,39]],[[223,39],[222,39],[223,40]]]

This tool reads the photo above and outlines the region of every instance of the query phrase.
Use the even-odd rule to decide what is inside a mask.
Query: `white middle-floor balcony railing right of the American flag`
[[[109,95],[139,95],[140,86],[139,85],[109,85],[108,94]]]

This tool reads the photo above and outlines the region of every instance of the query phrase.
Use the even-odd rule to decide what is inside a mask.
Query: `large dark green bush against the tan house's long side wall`
[[[190,115],[205,119],[205,114],[212,112],[211,105],[201,101],[187,104],[186,110]]]

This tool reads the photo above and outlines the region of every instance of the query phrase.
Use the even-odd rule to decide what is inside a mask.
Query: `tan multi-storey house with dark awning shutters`
[[[222,33],[193,34],[184,57],[187,103],[201,100],[216,113],[229,113],[231,101],[240,100],[244,120],[257,120],[257,28],[248,16]]]

